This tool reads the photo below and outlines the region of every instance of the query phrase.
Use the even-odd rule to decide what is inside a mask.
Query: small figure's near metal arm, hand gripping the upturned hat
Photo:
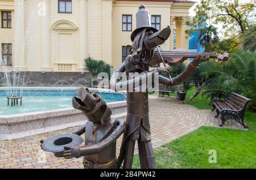
[[[125,132],[126,130],[126,122],[121,119],[117,119],[117,127],[115,130],[108,135],[105,139],[101,140],[101,142],[93,144],[93,145],[83,145],[80,147],[65,147],[65,151],[63,153],[64,158],[72,158],[72,157],[81,157],[88,155],[96,155],[108,148],[112,145],[116,140]]]

